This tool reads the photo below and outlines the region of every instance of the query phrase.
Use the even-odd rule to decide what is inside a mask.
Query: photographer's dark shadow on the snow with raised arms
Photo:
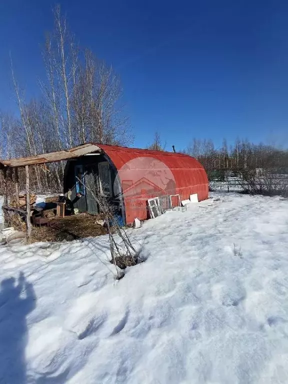
[[[26,383],[25,347],[26,316],[36,306],[32,284],[22,272],[18,279],[3,279],[0,283],[0,382]]]

